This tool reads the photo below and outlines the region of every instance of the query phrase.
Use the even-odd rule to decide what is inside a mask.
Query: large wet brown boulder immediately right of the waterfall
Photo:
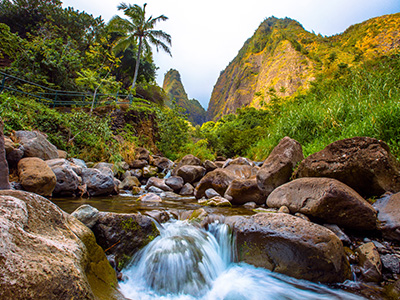
[[[299,279],[343,282],[350,265],[342,242],[329,229],[287,214],[228,217],[239,261]]]

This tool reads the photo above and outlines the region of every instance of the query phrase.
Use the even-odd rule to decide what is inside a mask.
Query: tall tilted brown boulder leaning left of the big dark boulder
[[[257,184],[265,196],[289,181],[293,168],[304,158],[299,142],[284,137],[257,173]]]

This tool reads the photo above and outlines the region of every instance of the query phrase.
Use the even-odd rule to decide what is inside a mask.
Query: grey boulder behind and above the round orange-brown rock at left
[[[39,157],[43,160],[58,158],[57,147],[38,131],[16,131],[15,137],[24,146],[25,157]]]

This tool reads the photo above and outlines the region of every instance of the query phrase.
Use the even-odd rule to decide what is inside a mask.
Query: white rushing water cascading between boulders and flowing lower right
[[[160,226],[160,236],[123,270],[122,293],[135,300],[363,299],[304,280],[234,263],[225,224],[208,231],[183,221]]]

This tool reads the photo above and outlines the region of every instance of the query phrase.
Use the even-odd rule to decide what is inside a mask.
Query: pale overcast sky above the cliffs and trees
[[[310,32],[330,36],[367,19],[400,12],[400,0],[64,0],[63,6],[108,22],[117,13],[123,16],[117,10],[121,2],[147,3],[148,16],[169,18],[156,27],[172,36],[172,58],[154,53],[157,82],[162,86],[164,74],[178,70],[189,98],[206,109],[220,72],[265,18],[289,17]]]

